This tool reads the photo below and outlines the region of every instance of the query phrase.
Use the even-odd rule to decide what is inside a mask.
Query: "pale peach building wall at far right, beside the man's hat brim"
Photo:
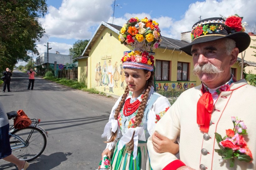
[[[256,41],[253,41],[252,39],[256,39],[256,36],[250,36],[251,37],[251,43],[249,45],[249,47],[245,50],[245,57],[244,57],[244,60],[246,61],[252,61],[252,62],[255,62],[256,63],[256,57],[254,57],[253,55],[255,55],[256,53],[256,50],[251,48],[250,46],[256,46]],[[254,52],[255,51],[255,52]],[[242,52],[242,54],[244,55],[244,52]],[[241,54],[238,55],[239,58],[241,58]],[[245,72],[246,73],[250,73],[251,74],[256,74],[256,67],[253,67],[253,66],[246,66],[244,68]]]

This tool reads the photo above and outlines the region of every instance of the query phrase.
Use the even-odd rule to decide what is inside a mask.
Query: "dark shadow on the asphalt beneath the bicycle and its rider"
[[[63,153],[56,152],[51,155],[40,155],[40,157],[36,158],[35,161],[30,162],[30,166],[28,169],[36,169],[36,170],[50,170],[54,167],[57,167],[61,164],[61,162],[66,161],[68,156],[72,155],[72,153]],[[54,160],[54,161],[53,161]],[[0,169],[12,168],[16,170],[16,166],[12,163],[4,162],[6,164],[0,165]]]

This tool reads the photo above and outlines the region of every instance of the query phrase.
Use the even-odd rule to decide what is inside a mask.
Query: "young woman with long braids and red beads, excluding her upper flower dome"
[[[136,62],[133,56],[138,60],[146,57],[146,60]],[[150,169],[146,142],[155,124],[171,106],[166,97],[154,91],[153,59],[146,51],[130,51],[122,58],[127,86],[112,108],[102,134],[107,136],[102,157],[112,158],[113,170]]]

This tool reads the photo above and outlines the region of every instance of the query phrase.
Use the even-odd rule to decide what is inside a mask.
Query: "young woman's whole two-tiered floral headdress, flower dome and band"
[[[158,48],[161,43],[158,23],[148,18],[130,18],[121,28],[118,38],[121,44],[133,47],[121,59],[123,68],[154,70],[154,57],[147,51]]]

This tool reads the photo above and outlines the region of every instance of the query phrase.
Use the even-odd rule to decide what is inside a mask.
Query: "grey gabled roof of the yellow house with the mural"
[[[91,47],[93,46],[96,39],[98,39],[99,35],[101,34],[101,32],[103,31],[104,28],[109,28],[113,32],[119,34],[119,30],[122,27],[118,26],[118,25],[111,24],[111,23],[105,23],[102,21],[101,24],[99,25],[99,27],[96,29],[95,33],[93,34],[92,38],[88,42],[87,46],[85,47],[85,49],[80,57],[86,58],[89,56]],[[162,42],[161,42],[161,45],[159,46],[159,48],[173,49],[173,50],[180,51],[179,48],[186,46],[187,44],[188,44],[188,42],[185,42],[182,40],[171,39],[171,38],[162,36]],[[76,59],[81,59],[81,58],[78,57]]]

